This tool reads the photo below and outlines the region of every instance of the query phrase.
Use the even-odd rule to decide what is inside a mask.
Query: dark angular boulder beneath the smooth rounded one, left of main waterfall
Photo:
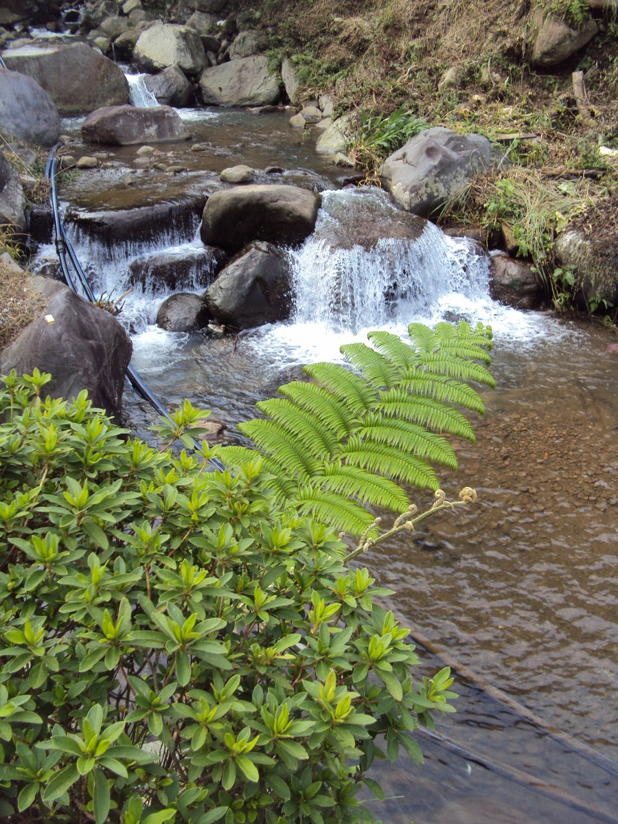
[[[209,315],[234,329],[285,320],[290,311],[288,266],[270,243],[246,246],[204,293]]]

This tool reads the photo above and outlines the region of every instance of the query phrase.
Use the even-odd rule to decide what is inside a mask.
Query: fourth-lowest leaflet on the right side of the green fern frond
[[[358,435],[374,443],[386,443],[391,447],[399,447],[402,452],[437,461],[452,469],[457,468],[455,452],[447,439],[418,424],[368,415],[365,424],[359,428]]]

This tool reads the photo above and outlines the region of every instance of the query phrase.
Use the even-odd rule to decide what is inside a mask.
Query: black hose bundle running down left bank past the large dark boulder
[[[2,58],[0,58],[1,60]],[[92,292],[90,283],[88,283],[87,275],[82,269],[82,265],[80,264],[77,254],[73,249],[73,243],[69,238],[63,224],[63,220],[60,217],[60,208],[58,203],[58,188],[56,185],[56,172],[58,171],[58,157],[55,157],[56,149],[60,146],[60,143],[56,143],[54,147],[49,150],[49,155],[47,157],[47,162],[45,163],[45,177],[49,180],[51,185],[51,194],[49,196],[49,200],[52,207],[52,212],[54,213],[54,230],[56,234],[56,250],[58,251],[58,257],[60,261],[60,268],[63,272],[63,278],[67,283],[67,286],[73,290],[73,292],[79,294],[79,289],[77,288],[77,283],[73,279],[73,275],[71,274],[71,270],[68,267],[67,262],[67,255],[71,263],[73,264],[73,269],[77,274],[77,280],[82,290],[86,293],[88,300],[91,303],[96,303],[95,294]],[[133,390],[146,400],[154,410],[157,411],[157,414],[162,415],[164,418],[171,419],[171,414],[166,410],[166,407],[162,404],[161,400],[157,398],[154,392],[147,386],[147,383],[143,380],[143,377],[140,376],[137,369],[134,369],[130,363],[129,367],[127,368],[126,372],[126,380],[129,382],[130,386],[133,387]],[[198,443],[193,441],[194,449],[199,447]],[[218,460],[218,458],[208,458],[208,461],[217,469],[218,471],[225,471],[225,465]]]

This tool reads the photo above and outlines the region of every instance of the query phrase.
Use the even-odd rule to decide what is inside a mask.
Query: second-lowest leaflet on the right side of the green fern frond
[[[369,506],[386,507],[396,513],[410,506],[410,499],[399,485],[360,466],[326,466],[316,484],[344,498],[358,498]]]

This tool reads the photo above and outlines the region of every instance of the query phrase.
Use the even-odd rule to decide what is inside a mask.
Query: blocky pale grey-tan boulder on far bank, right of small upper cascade
[[[264,55],[207,68],[199,78],[206,105],[268,105],[279,100],[279,81]]]

